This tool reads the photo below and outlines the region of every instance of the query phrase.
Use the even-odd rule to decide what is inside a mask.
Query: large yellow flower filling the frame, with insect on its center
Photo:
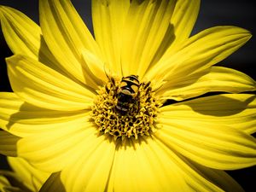
[[[40,26],[1,7],[1,152],[55,172],[41,191],[242,191],[222,170],[256,165],[256,100],[239,94],[255,82],[212,66],[251,34],[190,37],[199,6],[92,0],[95,38],[68,0],[40,0]]]

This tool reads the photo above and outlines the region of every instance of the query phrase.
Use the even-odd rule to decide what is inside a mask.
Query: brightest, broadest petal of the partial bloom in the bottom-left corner
[[[32,191],[38,191],[49,177],[49,173],[41,172],[38,169],[35,169],[26,160],[21,158],[8,157],[8,162],[15,171],[15,174],[22,178],[22,181],[26,184],[26,187]]]

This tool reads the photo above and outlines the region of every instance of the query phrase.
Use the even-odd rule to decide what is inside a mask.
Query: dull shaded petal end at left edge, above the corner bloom
[[[0,153],[7,156],[17,156],[17,142],[20,137],[16,137],[7,131],[0,131]]]

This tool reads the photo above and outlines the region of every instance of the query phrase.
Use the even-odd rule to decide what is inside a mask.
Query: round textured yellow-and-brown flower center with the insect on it
[[[150,82],[140,83],[135,75],[121,80],[109,78],[108,84],[98,91],[91,118],[102,134],[115,140],[137,139],[155,131],[160,105]]]

